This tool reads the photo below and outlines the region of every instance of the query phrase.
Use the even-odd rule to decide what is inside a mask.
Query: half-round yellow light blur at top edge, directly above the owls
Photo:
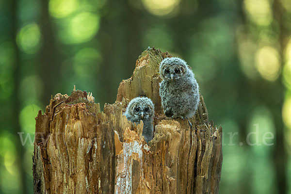
[[[165,16],[178,9],[180,0],[142,0],[146,10],[156,16]]]

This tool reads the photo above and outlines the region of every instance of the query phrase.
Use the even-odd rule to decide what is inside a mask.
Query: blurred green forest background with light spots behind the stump
[[[188,62],[223,126],[220,194],[291,194],[291,0],[0,0],[0,194],[33,193],[51,95],[113,103],[148,46]]]

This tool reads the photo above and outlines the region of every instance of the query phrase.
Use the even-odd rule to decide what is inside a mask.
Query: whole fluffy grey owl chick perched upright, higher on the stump
[[[160,96],[166,116],[192,117],[200,100],[199,86],[186,62],[178,57],[165,58],[160,64],[160,77]]]

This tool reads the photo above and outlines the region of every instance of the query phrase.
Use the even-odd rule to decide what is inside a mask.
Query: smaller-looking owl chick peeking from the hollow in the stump
[[[126,118],[133,123],[144,123],[143,136],[146,143],[153,139],[153,118],[154,104],[147,97],[135,97],[130,102],[126,109]]]

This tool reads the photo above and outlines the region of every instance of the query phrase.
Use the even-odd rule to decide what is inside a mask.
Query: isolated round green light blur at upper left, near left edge
[[[27,54],[33,54],[40,48],[40,30],[36,23],[27,24],[17,34],[18,47]]]

